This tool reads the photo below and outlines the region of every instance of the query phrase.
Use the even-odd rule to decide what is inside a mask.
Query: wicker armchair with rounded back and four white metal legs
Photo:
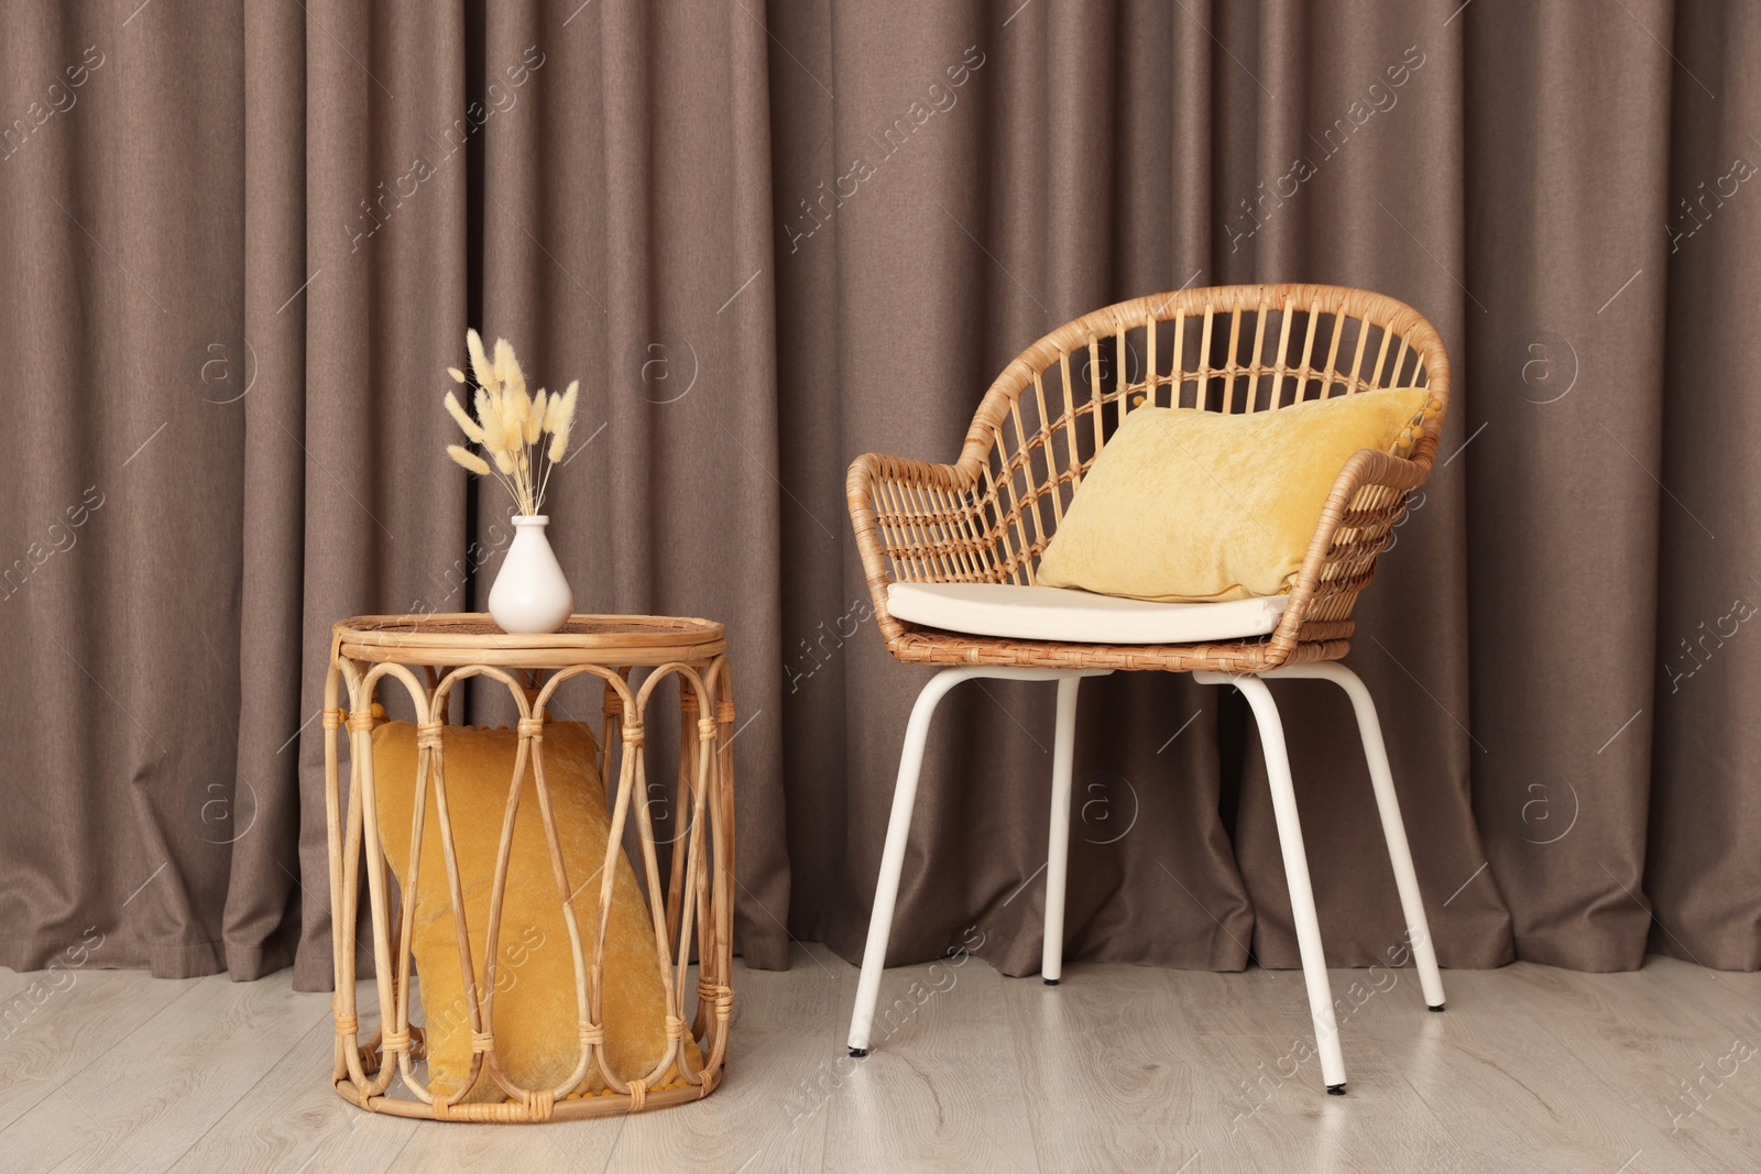
[[[953,625],[960,628],[953,630],[947,620],[930,627],[923,613],[914,613],[917,621],[898,614],[907,611],[900,590],[912,590],[905,584],[1007,584],[976,588],[983,595],[981,607],[997,598],[1013,602],[1023,595],[1043,598],[1055,593],[1053,588],[1035,588],[1039,556],[1083,473],[1127,414],[1139,407],[1264,412],[1324,396],[1368,394],[1381,387],[1426,387],[1448,405],[1449,359],[1442,340],[1411,306],[1331,285],[1180,290],[1095,310],[1021,352],[984,394],[953,465],[873,454],[851,465],[851,521],[888,651],[907,664],[949,665],[925,686],[905,734],[851,1023],[852,1056],[868,1049],[930,718],[937,702],[970,678],[1058,681],[1043,965],[1048,984],[1058,980],[1062,968],[1071,752],[1081,678],[1116,669],[1162,669],[1192,672],[1203,683],[1234,685],[1247,695],[1266,750],[1323,1079],[1330,1093],[1345,1091],[1345,1067],[1284,734],[1261,678],[1303,676],[1340,685],[1358,715],[1425,1002],[1432,1010],[1442,1010],[1442,980],[1375,708],[1356,674],[1337,662],[1349,649],[1351,609],[1370,583],[1375,556],[1389,546],[1409,491],[1430,475],[1444,412],[1430,419],[1411,458],[1365,449],[1345,463],[1275,627],[1273,621],[1243,627],[1242,635],[1233,639],[1217,639],[1212,632],[1203,641],[1169,641],[1166,632],[1173,613],[1157,609],[1171,605],[1134,604],[1141,621],[1134,614],[1116,618],[1116,623],[1102,616],[1102,623],[1111,625],[1109,632],[1122,625],[1127,632],[1097,642],[1092,637],[1046,639],[1044,621],[1035,627],[1037,639],[1023,639],[998,635],[995,628],[983,634],[986,625]],[[1069,595],[1074,620],[1087,607],[1079,598],[1085,593]],[[1053,605],[1058,604],[1062,600],[1053,600]],[[1219,614],[1212,613],[1206,625],[1201,613],[1240,605],[1183,607],[1171,621],[1176,630],[1189,616],[1197,628],[1215,630]],[[1055,627],[1057,620],[1051,623]],[[1007,628],[1009,621],[1002,620],[998,627]]]

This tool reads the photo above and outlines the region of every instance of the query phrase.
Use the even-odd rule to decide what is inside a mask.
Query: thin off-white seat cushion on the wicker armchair
[[[888,611],[909,623],[1074,644],[1196,644],[1264,635],[1287,595],[1227,604],[1152,604],[1074,588],[1009,583],[893,583]]]

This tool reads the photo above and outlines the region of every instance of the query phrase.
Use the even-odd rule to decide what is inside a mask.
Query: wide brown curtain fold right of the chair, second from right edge
[[[1676,65],[1645,21],[1669,35],[1668,5],[1631,5],[1513,9],[1465,39],[1465,280],[1486,306],[1467,590],[1474,628],[1504,634],[1474,641],[1476,813],[1522,956],[1588,970],[1638,966],[1650,922]],[[1604,183],[1610,165],[1629,181]]]

